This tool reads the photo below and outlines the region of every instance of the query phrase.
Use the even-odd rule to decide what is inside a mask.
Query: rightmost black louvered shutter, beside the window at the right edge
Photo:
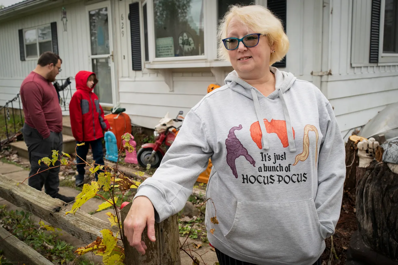
[[[381,0],[372,0],[371,48],[369,51],[369,63],[377,63],[378,62],[380,7],[381,7]]]

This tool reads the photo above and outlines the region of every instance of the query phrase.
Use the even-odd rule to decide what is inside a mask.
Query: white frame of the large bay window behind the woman
[[[212,67],[231,66],[230,62],[219,60],[217,56],[217,26],[218,26],[218,1],[203,0],[203,32],[204,55],[156,57],[154,0],[146,0],[147,25],[148,25],[148,58],[144,60],[145,68],[186,68],[186,67]],[[267,6],[267,0],[253,0],[256,4]],[[143,6],[142,4],[142,6]],[[142,19],[143,21],[143,19]],[[142,27],[143,28],[143,27]],[[142,33],[142,38],[144,34]],[[145,56],[145,55],[144,55]]]

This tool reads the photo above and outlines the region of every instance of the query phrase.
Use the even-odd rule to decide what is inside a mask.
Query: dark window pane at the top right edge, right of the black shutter
[[[383,52],[398,53],[398,0],[386,0]]]

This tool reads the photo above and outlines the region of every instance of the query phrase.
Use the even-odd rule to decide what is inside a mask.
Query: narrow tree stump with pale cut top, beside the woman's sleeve
[[[345,182],[344,190],[351,191],[356,187],[356,169],[359,165],[359,157],[357,155],[357,143],[362,141],[363,137],[351,135],[345,145]]]

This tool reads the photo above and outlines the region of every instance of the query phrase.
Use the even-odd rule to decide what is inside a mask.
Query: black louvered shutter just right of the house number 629
[[[140,35],[140,10],[139,2],[129,4],[129,20],[131,35],[131,57],[133,70],[141,71],[141,35]]]

